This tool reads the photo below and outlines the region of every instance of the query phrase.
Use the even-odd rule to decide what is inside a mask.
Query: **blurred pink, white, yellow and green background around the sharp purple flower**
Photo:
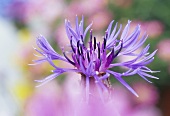
[[[132,20],[131,29],[140,24],[142,33],[147,31],[145,45],[150,43],[150,52],[159,49],[149,67],[161,71],[154,74],[160,79],[150,79],[153,84],[149,84],[139,76],[126,78],[139,98],[116,80],[111,81],[119,92],[126,93],[126,98],[120,99],[130,101],[123,106],[130,107],[131,116],[170,116],[169,6],[169,0],[0,0],[0,116],[56,116],[55,102],[62,97],[61,88],[68,77],[76,75],[65,74],[36,88],[34,80],[51,74],[52,67],[28,64],[37,59],[33,46],[39,34],[61,53],[60,48],[69,42],[64,20],[74,23],[76,15],[85,17],[86,26],[93,21],[97,38],[104,35],[112,20],[123,25]]]

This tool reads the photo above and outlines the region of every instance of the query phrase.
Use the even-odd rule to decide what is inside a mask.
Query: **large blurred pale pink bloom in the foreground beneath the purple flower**
[[[75,78],[74,73],[68,76],[60,86],[51,81],[38,88],[25,105],[25,116],[161,116],[154,104],[134,106],[131,95],[118,85],[113,86],[108,99],[102,101],[93,94],[87,103],[80,77]]]

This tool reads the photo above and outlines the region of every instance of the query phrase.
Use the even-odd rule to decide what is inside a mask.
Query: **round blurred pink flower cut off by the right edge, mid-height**
[[[157,45],[158,56],[164,61],[170,61],[170,39],[164,39]]]

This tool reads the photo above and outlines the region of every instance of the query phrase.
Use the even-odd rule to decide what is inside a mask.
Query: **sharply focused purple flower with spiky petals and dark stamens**
[[[144,44],[148,37],[145,33],[142,38],[138,39],[140,35],[140,25],[137,25],[134,31],[129,33],[131,21],[128,21],[123,30],[122,25],[117,29],[117,23],[112,29],[113,22],[114,21],[109,24],[103,37],[103,41],[97,42],[96,37],[93,36],[92,30],[90,30],[92,23],[84,30],[83,16],[80,23],[78,17],[76,17],[75,29],[72,28],[68,20],[65,20],[66,33],[70,40],[70,51],[66,52],[62,49],[63,55],[58,54],[50,46],[47,40],[40,35],[36,41],[40,50],[36,48],[35,50],[43,57],[39,60],[35,60],[35,64],[47,61],[54,67],[54,70],[52,71],[53,74],[43,80],[36,80],[37,82],[42,83],[40,86],[64,72],[77,72],[81,75],[82,83],[85,85],[86,89],[86,97],[88,98],[92,88],[91,83],[95,83],[96,87],[99,88],[99,93],[102,91],[108,91],[111,87],[109,78],[110,75],[113,75],[113,77],[123,84],[129,91],[135,96],[138,96],[122,77],[137,74],[148,82],[151,81],[147,78],[158,79],[157,77],[148,74],[158,71],[152,71],[146,66],[154,60],[154,55],[157,50],[149,54],[148,50],[150,45],[148,44],[140,53],[135,53],[135,51]],[[87,43],[87,47],[85,45],[85,38],[87,37],[87,32],[89,32],[89,30],[90,40]],[[119,36],[120,39],[118,39]],[[68,55],[70,55],[70,57]],[[135,56],[135,58],[126,62],[113,63],[116,58],[125,55]],[[53,63],[54,60],[61,60],[70,63],[74,68],[60,68]],[[128,70],[123,73],[111,70],[111,68],[119,66],[126,67]]]

